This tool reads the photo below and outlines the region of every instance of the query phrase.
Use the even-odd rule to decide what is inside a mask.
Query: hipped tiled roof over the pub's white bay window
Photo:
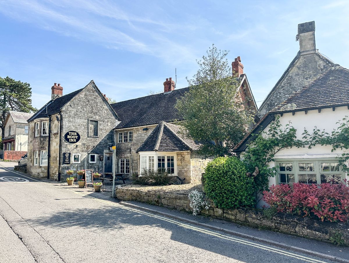
[[[136,152],[197,150],[200,144],[184,133],[181,126],[161,121]]]

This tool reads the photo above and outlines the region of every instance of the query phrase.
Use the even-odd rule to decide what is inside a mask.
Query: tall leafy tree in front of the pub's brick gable
[[[197,61],[198,72],[187,79],[189,91],[176,105],[188,133],[205,142],[199,152],[207,156],[229,154],[253,123],[253,114],[238,99],[240,81],[232,75],[228,52],[214,45],[207,50]]]

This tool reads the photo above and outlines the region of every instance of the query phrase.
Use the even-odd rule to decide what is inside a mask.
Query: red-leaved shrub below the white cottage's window
[[[340,184],[273,185],[263,199],[278,212],[318,217],[321,221],[346,222],[349,212],[349,182]]]

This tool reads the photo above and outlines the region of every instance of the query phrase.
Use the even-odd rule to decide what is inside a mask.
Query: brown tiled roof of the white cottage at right
[[[349,70],[333,65],[270,112],[293,112],[349,105]]]

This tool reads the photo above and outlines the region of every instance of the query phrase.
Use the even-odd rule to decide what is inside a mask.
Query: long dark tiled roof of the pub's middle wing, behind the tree
[[[161,121],[171,122],[183,120],[175,107],[189,88],[175,89],[171,92],[159,93],[145,97],[129,99],[111,104],[118,114],[120,123],[117,129],[151,125]]]

